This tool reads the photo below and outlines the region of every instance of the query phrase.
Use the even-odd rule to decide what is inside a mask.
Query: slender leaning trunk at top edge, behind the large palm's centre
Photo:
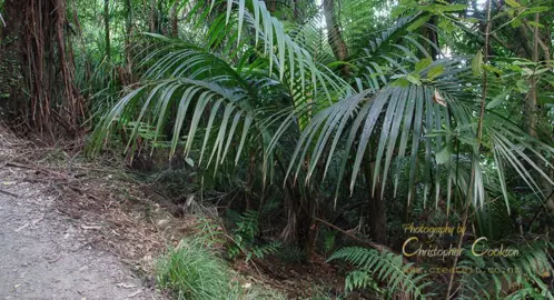
[[[343,33],[340,32],[340,27],[338,22],[339,16],[335,14],[335,1],[324,0],[324,13],[325,22],[327,24],[327,40],[330,44],[335,59],[338,61],[346,61],[348,58],[348,49],[346,42],[343,39]],[[340,68],[343,76],[347,77],[349,74],[349,68],[343,66]]]

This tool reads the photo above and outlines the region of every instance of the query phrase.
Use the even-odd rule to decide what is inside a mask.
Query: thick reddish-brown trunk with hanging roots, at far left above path
[[[79,133],[82,98],[66,46],[66,1],[6,0],[3,10],[0,118],[17,119],[51,142],[57,133]]]

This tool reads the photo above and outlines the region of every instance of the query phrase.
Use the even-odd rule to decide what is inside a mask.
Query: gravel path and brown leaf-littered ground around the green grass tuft
[[[82,141],[39,147],[0,126],[0,299],[170,298],[155,289],[156,259],[217,212],[176,208],[129,176],[120,153],[73,149]],[[323,258],[231,267],[241,284],[287,299],[336,294],[344,280]]]

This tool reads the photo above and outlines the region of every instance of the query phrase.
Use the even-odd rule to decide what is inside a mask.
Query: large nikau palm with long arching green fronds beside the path
[[[308,251],[323,200],[345,206],[356,189],[379,211],[367,222],[384,243],[374,231],[386,230],[385,199],[399,201],[406,216],[419,202],[449,216],[467,199],[484,220],[492,199],[504,199],[511,213],[508,173],[537,197],[547,197],[541,182],[554,184],[552,144],[498,113],[498,94],[484,97],[501,83],[482,83],[486,72],[497,73],[491,61],[441,56],[417,33],[429,11],[404,11],[374,41],[347,40],[350,53],[364,54],[329,62],[335,44],[320,22],[287,30],[258,0],[190,4],[209,21],[190,18],[184,39],[147,34],[155,42],[140,53],[144,79],[103,116],[97,149],[112,127],[125,126],[129,148],[139,134],[167,141],[169,156],[182,152],[206,177],[250,166],[261,194],[285,190],[284,236]],[[438,16],[465,9],[434,6]],[[310,47],[316,42],[321,47]]]

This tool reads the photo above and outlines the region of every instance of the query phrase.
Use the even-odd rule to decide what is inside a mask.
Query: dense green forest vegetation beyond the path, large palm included
[[[6,16],[16,13],[16,2],[0,4],[8,23],[16,22]],[[355,267],[347,290],[554,299],[552,7],[71,0],[57,41],[71,48],[68,70],[59,71],[71,89],[52,92],[82,102],[73,106],[78,113],[68,110],[73,119],[41,124],[53,122],[49,134],[56,122],[93,126],[92,154],[122,141],[130,160],[169,157],[171,179],[184,180],[168,192],[187,206],[184,193],[217,206],[231,228],[233,258],[264,258],[287,246],[309,260],[357,246],[330,256]],[[30,33],[3,30],[2,51],[17,52],[10,34]],[[41,70],[26,69],[24,56],[14,68],[18,56],[10,53],[0,59],[2,72],[40,78]],[[22,82],[0,86],[0,108],[32,124],[29,108],[41,98]],[[6,91],[13,84],[26,92]],[[41,103],[41,110],[63,106]],[[408,224],[463,230],[416,234]],[[412,236],[427,248],[464,251],[406,256]],[[479,238],[485,249],[475,248]],[[487,248],[518,254],[475,256]],[[186,249],[167,261],[182,260]],[[495,271],[428,271],[461,266]],[[171,283],[164,272],[165,287],[189,284]]]

